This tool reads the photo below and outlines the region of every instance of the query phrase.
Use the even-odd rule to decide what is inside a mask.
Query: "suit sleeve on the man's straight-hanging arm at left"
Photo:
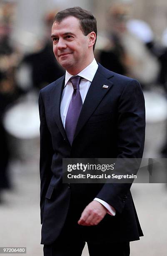
[[[39,113],[40,113],[40,215],[41,224],[45,204],[45,195],[52,178],[52,139],[47,127],[45,108],[42,100],[42,92],[39,94]]]

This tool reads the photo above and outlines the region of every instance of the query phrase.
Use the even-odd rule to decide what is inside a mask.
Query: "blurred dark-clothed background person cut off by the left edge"
[[[10,40],[14,13],[15,4],[0,4],[0,193],[2,189],[10,187],[8,176],[10,152],[2,120],[7,107],[22,93],[15,80],[19,54],[15,52]]]

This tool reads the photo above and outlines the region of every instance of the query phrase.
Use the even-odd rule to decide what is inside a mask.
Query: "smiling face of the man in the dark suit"
[[[77,18],[69,16],[60,23],[54,22],[51,37],[57,61],[70,74],[79,73],[90,64],[90,36],[83,34]]]

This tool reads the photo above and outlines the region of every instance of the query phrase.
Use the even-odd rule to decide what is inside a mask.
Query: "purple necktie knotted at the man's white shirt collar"
[[[82,98],[80,95],[80,80],[82,77],[75,76],[71,77],[70,81],[72,82],[72,86],[74,88],[72,93],[72,98],[70,101],[70,105],[67,111],[67,116],[65,120],[65,131],[67,134],[67,138],[72,145],[72,141],[75,134],[75,129],[77,126],[77,121],[82,109]]]

